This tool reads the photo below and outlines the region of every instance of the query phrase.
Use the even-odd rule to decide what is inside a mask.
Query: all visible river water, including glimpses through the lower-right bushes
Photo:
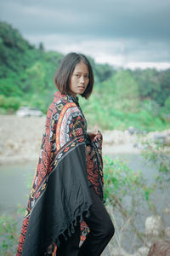
[[[143,172],[144,177],[149,183],[154,181],[156,176],[156,166],[147,165],[144,162],[144,158],[140,154],[111,154],[108,155],[111,159],[118,157],[121,160],[126,160],[127,165],[134,171]],[[37,163],[36,162],[27,162],[26,164],[8,164],[0,166],[0,214],[3,212],[12,214],[16,210],[17,204],[26,206],[28,201],[28,195],[30,189],[28,189],[28,180],[32,180],[34,173],[36,171]],[[165,197],[169,197],[170,191],[165,191]],[[157,194],[157,209],[162,208],[162,195]],[[164,197],[164,195],[163,195]],[[137,219],[138,229],[144,231],[144,220],[147,216],[150,215],[150,212],[142,212],[142,207],[140,209],[141,214],[140,218]],[[119,214],[118,214],[119,215]],[[119,215],[120,219],[122,218]],[[167,218],[166,225],[168,224],[169,218]],[[21,227],[21,216],[19,218],[18,230]],[[132,241],[133,234],[128,234],[129,239]],[[138,244],[139,247],[141,246]],[[125,241],[123,247],[129,251],[129,242]]]

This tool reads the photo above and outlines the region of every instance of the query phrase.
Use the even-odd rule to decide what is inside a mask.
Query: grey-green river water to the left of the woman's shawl
[[[29,177],[34,176],[35,163],[0,166],[0,213],[13,213],[17,204],[26,205]]]

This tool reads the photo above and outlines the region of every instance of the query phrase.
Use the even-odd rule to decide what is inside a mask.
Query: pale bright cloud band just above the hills
[[[58,50],[64,54],[69,51],[79,51],[88,55],[92,55],[95,60],[119,60],[119,66],[125,65],[128,61],[169,61],[170,51],[168,45],[160,41],[147,41],[128,38],[90,39],[82,38],[82,36],[71,37],[69,35],[51,34],[46,37],[32,36],[29,38],[31,42],[43,42],[46,49]],[[161,53],[159,55],[158,53]],[[110,56],[110,57],[109,57]],[[112,61],[111,61],[112,59]],[[126,63],[125,63],[126,62]],[[116,61],[117,63],[117,61]]]

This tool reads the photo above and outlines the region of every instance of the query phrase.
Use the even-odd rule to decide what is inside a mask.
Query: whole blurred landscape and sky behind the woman
[[[169,12],[168,0],[1,0],[2,255],[14,255],[54,73],[71,51],[94,67],[94,93],[79,101],[88,129],[104,134],[105,200],[116,225],[105,255],[147,255],[153,241],[170,238]],[[150,216],[160,222],[147,231]]]

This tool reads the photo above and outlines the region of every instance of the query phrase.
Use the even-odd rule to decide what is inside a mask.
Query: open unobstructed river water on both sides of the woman
[[[128,166],[133,171],[142,171],[144,177],[152,182],[156,174],[155,166],[147,166],[139,154],[111,154],[112,159],[119,157],[127,160]],[[10,164],[0,166],[0,213],[14,212],[17,204],[26,205],[28,179],[33,179],[37,164],[26,162],[26,164]]]

